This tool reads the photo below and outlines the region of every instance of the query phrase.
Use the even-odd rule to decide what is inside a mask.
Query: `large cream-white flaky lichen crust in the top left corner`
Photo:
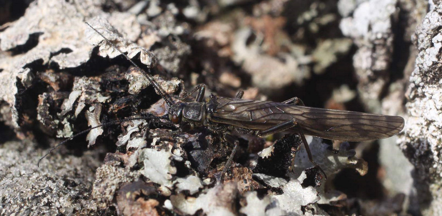
[[[129,54],[132,57],[142,51],[142,62],[151,67],[156,64],[156,60],[150,52],[129,41],[129,39],[136,40],[140,35],[139,25],[137,28],[130,28],[131,25],[137,25],[135,16],[118,12],[107,14],[99,7],[103,2],[74,4],[65,1],[36,0],[30,4],[23,17],[0,32],[1,50],[14,49],[24,45],[30,39],[30,35],[38,37],[37,45],[26,53],[0,58],[0,68],[2,69],[0,98],[10,104],[15,127],[18,128],[17,106],[20,106],[16,103],[17,99],[15,98],[19,92],[16,78],[22,83],[24,89],[27,89],[31,85],[31,75],[34,73],[30,71],[30,68],[27,68],[27,65],[32,62],[42,61],[40,63],[42,65],[56,63],[59,68],[74,68],[87,62],[94,48],[92,44],[103,42],[103,38],[99,35],[88,36],[92,35],[91,29],[84,22],[91,17],[106,17],[116,29],[122,30],[126,39],[122,40],[122,37],[116,36],[116,34],[107,34],[107,36],[114,36],[111,39],[120,39],[121,42],[124,42],[126,49],[131,51]],[[97,19],[91,20],[92,24],[96,24],[95,27],[109,27],[109,25],[103,26],[106,22],[97,23],[98,21],[95,22],[95,20]],[[115,57],[119,55],[108,45],[100,47],[100,54],[103,56]],[[69,51],[66,52],[66,49]],[[56,54],[54,55],[54,53]]]

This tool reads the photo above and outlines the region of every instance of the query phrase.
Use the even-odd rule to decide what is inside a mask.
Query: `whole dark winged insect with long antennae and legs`
[[[91,26],[89,25],[89,27]],[[306,107],[304,103],[296,97],[284,102],[246,100],[241,99],[244,92],[240,91],[235,98],[225,98],[212,94],[206,98],[206,100],[203,100],[206,89],[203,84],[195,87],[183,98],[179,98],[176,95],[167,95],[158,83],[152,80],[137,64],[118,49],[118,47],[105,38],[103,34],[99,33],[98,30],[93,27],[91,28],[126,57],[133,66],[152,83],[153,87],[168,104],[168,114],[160,117],[126,118],[92,127],[69,137],[69,139],[51,149],[46,155],[66,141],[98,127],[131,120],[167,119],[175,124],[190,126],[187,127],[190,129],[194,127],[206,127],[214,133],[222,133],[224,140],[234,145],[232,153],[221,172],[221,180],[229,168],[230,163],[232,163],[232,158],[239,144],[238,138],[229,133],[228,128],[232,127],[234,129],[241,129],[240,131],[242,132],[254,133],[257,136],[266,136],[282,131],[298,133],[301,136],[310,162],[322,171],[324,178],[327,178],[325,172],[313,160],[309,144],[304,134],[331,140],[366,141],[394,136],[404,127],[404,119],[400,116]],[[198,91],[198,93],[195,101],[186,102],[185,99],[196,91]],[[46,155],[44,155],[38,163],[40,163]]]

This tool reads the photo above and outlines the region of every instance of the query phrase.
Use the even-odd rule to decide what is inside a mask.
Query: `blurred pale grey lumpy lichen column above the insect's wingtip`
[[[358,51],[353,56],[359,80],[358,91],[368,110],[374,112],[380,111],[379,98],[390,79],[396,4],[397,0],[363,1],[357,4],[352,16],[343,18],[340,23],[342,33],[354,38],[358,45]],[[349,9],[341,11],[343,15],[349,14],[346,12]]]

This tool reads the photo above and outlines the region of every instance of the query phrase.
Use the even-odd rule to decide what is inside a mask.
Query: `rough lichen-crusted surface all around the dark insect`
[[[441,4],[35,0],[7,19],[1,9],[0,214],[442,215]],[[205,96],[244,89],[405,115],[406,129],[377,144],[307,137],[327,180],[299,136],[242,134],[219,184],[232,151],[224,128],[149,119],[167,114],[160,94],[175,101],[200,83]],[[126,117],[145,119],[93,129],[37,167],[57,138]]]

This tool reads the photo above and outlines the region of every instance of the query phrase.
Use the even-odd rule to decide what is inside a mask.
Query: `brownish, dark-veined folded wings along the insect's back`
[[[404,119],[400,116],[223,97],[218,97],[217,102],[213,121],[254,130],[296,119],[308,135],[331,140],[366,141],[394,136],[404,128]]]

